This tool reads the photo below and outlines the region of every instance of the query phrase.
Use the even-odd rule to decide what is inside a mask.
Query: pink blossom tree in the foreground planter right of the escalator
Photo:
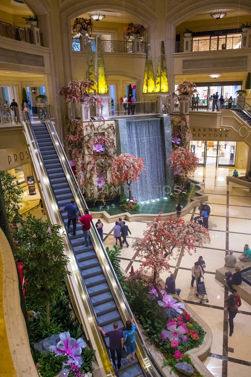
[[[143,233],[144,237],[137,237],[132,244],[133,249],[138,256],[145,260],[141,263],[141,269],[147,268],[152,270],[153,287],[158,292],[159,300],[162,299],[160,290],[156,283],[156,279],[161,272],[169,270],[169,259],[173,256],[174,248],[176,258],[179,251],[187,251],[191,255],[191,251],[196,251],[195,242],[199,246],[210,242],[209,232],[202,225],[184,221],[182,218],[167,220],[161,219],[160,215],[147,224],[147,229]]]

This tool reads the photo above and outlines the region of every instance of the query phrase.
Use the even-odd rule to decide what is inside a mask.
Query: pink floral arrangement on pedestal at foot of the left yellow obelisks
[[[94,82],[91,80],[71,80],[67,85],[61,87],[59,94],[66,98],[66,103],[72,106],[73,103],[96,104],[99,109],[103,108],[103,99],[94,93]]]

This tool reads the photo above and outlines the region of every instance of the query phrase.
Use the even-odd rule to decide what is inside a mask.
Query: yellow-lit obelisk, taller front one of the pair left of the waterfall
[[[107,81],[106,70],[104,67],[103,50],[101,46],[101,40],[99,35],[96,36],[96,52],[95,52],[95,90],[99,94],[106,94]]]

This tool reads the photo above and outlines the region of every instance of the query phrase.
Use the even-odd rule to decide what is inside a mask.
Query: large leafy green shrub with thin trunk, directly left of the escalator
[[[50,230],[49,230],[50,228]],[[50,324],[50,304],[63,294],[69,258],[59,233],[60,225],[36,219],[31,214],[15,233],[18,258],[23,262],[26,289],[46,305],[46,323]]]

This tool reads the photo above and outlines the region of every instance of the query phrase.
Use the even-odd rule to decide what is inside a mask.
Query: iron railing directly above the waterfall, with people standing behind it
[[[156,113],[157,109],[157,101],[109,103],[109,115],[151,114]]]

